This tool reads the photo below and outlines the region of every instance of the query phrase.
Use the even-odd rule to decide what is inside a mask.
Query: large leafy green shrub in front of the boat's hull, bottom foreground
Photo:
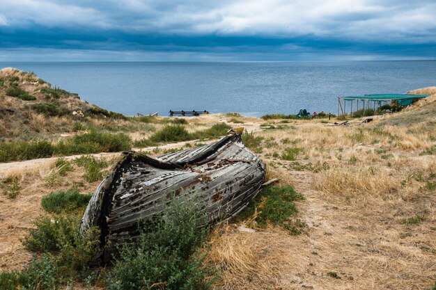
[[[121,250],[107,275],[109,290],[210,289],[205,257],[198,254],[205,240],[200,207],[171,202],[169,208],[161,219],[143,225],[138,243]]]

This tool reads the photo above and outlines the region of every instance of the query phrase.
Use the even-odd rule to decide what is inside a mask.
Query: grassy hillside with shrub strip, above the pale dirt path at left
[[[0,70],[0,163],[219,138],[231,128],[187,119],[126,117],[53,88],[33,72]]]

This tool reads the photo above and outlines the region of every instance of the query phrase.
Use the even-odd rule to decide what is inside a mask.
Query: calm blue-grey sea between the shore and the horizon
[[[5,63],[126,115],[337,111],[337,97],[436,86],[435,61]]]

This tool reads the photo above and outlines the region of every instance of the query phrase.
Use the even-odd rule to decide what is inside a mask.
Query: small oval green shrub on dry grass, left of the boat
[[[42,208],[49,213],[68,213],[77,209],[84,209],[91,199],[91,195],[80,194],[78,191],[56,191],[42,198]]]

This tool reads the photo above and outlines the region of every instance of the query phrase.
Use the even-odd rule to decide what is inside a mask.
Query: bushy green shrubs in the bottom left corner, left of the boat
[[[33,257],[21,272],[0,274],[2,283],[10,289],[59,289],[61,284],[84,280],[90,273],[90,265],[99,257],[100,232],[95,227],[79,234],[78,218],[40,218],[37,229],[32,229],[24,240],[29,250],[45,252]],[[22,288],[20,288],[22,287]],[[3,288],[1,288],[3,289]],[[8,289],[8,288],[6,288]]]

